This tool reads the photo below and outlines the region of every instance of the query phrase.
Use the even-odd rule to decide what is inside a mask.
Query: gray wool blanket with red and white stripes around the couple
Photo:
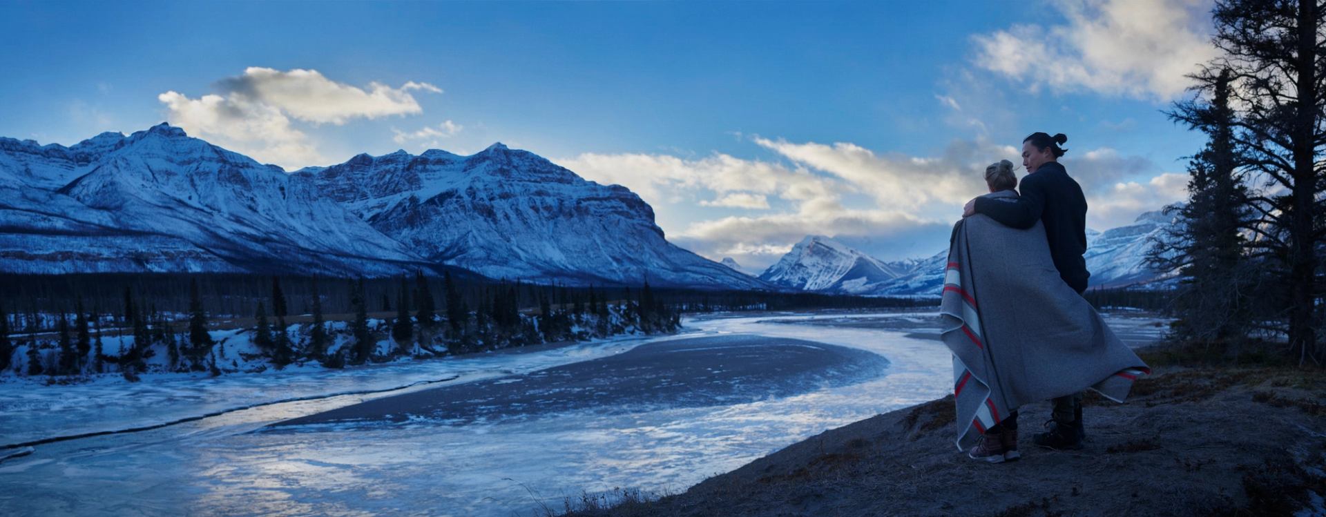
[[[940,313],[953,353],[959,449],[1022,404],[1089,387],[1123,402],[1138,375],[1151,373],[1059,278],[1041,223],[1016,229],[984,215],[957,221]]]

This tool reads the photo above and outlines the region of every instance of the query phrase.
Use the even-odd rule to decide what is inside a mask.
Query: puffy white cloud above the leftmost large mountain
[[[423,109],[410,91],[442,93],[426,82],[410,81],[396,89],[370,82],[361,89],[332,81],[317,70],[260,66],[221,80],[217,87],[219,93],[198,98],[171,90],[156,99],[166,106],[170,123],[288,170],[325,163],[309,135],[292,119],[343,125],[355,118],[419,114]]]

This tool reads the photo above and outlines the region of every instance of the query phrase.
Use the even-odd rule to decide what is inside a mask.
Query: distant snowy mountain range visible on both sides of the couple
[[[1154,237],[1174,224],[1160,211],[1146,212],[1128,225],[1105,232],[1087,229],[1087,270],[1091,288],[1147,284],[1160,274],[1146,265]],[[926,258],[883,262],[821,236],[808,236],[761,278],[805,290],[863,296],[939,296],[948,251]],[[874,273],[871,276],[870,273]],[[879,280],[874,280],[879,278]]]

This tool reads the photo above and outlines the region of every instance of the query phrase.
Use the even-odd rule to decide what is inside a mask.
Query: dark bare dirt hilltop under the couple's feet
[[[1326,516],[1319,369],[1162,366],[1127,404],[1094,392],[1085,403],[1083,451],[1032,444],[1049,419],[1040,403],[1021,411],[1021,461],[975,463],[953,445],[949,396],[825,431],[680,494],[582,497],[565,516]]]

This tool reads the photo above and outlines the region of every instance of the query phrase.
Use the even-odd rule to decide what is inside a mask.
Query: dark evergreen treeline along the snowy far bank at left
[[[32,278],[28,278],[29,281]],[[58,282],[57,277],[48,278]],[[159,350],[166,358],[155,362],[166,371],[211,371],[220,374],[227,366],[225,342],[213,338],[216,327],[243,329],[257,355],[274,367],[293,362],[318,362],[343,367],[399,357],[435,357],[443,354],[492,350],[541,342],[586,339],[623,331],[671,333],[680,325],[680,312],[662,301],[646,282],[640,289],[623,288],[621,296],[595,288],[569,289],[557,285],[522,282],[485,282],[463,285],[450,273],[434,278],[414,277],[378,280],[379,286],[392,286],[390,296],[374,300],[370,280],[308,278],[305,292],[309,312],[292,316],[289,308],[292,282],[282,277],[263,277],[265,293],[247,293],[253,306],[248,318],[231,314],[216,318],[207,310],[202,285],[207,276],[187,280],[183,310],[172,300],[158,301],[135,285],[170,285],[160,278],[131,278],[125,282],[114,309],[102,309],[70,293],[54,313],[5,313],[0,302],[0,371],[17,369],[16,351],[23,347],[25,375],[80,375],[115,371],[129,379],[147,370],[147,359]],[[252,285],[245,282],[241,285]],[[324,294],[324,285],[343,285],[347,313],[330,316],[325,306],[335,304]],[[434,286],[440,294],[434,296]],[[107,288],[102,285],[102,288]],[[233,286],[229,288],[233,290]],[[53,302],[53,301],[46,301]],[[233,302],[224,298],[219,304]],[[382,305],[375,305],[381,302]],[[530,306],[522,306],[522,304]],[[213,300],[213,304],[217,301]],[[32,305],[36,305],[34,302]],[[162,310],[167,305],[171,310]],[[383,310],[375,310],[383,309]],[[296,322],[294,319],[298,319]],[[329,325],[329,321],[343,325]],[[293,325],[292,325],[293,323]],[[107,350],[103,337],[118,343]],[[390,346],[383,347],[383,343]],[[232,347],[236,345],[232,345]],[[232,349],[232,353],[235,350]],[[241,354],[243,355],[243,354]],[[220,359],[219,359],[220,357]],[[245,361],[249,358],[245,357]],[[237,367],[237,361],[235,362]]]

